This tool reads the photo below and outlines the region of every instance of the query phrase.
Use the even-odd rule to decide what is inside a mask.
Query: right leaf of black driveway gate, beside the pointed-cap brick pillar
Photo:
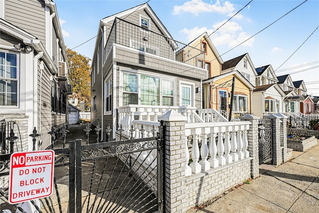
[[[162,135],[161,126],[151,138],[76,141],[76,213],[162,212]]]

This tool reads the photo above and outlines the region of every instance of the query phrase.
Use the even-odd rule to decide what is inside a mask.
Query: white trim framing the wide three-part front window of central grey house
[[[123,106],[123,73],[135,74],[138,76],[138,105],[141,105],[141,75],[159,77],[160,79],[173,80],[173,91],[176,91],[176,78],[146,71],[137,71],[120,68],[119,72],[119,106]],[[162,81],[160,81],[160,106],[162,106]],[[195,85],[195,84],[194,84]],[[173,93],[173,106],[176,106],[176,92]]]

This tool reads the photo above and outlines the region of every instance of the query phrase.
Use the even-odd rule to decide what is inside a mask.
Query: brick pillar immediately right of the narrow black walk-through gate
[[[273,151],[273,165],[279,166],[283,163],[283,147],[281,146],[281,134],[280,134],[280,126],[282,121],[280,117],[276,115],[268,115],[265,118],[272,120],[272,151]],[[287,150],[286,150],[287,152]]]

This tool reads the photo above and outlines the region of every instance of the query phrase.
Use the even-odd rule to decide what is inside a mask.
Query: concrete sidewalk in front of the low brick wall
[[[319,140],[318,140],[319,141]],[[319,145],[187,213],[319,213]],[[267,169],[267,167],[264,167]]]

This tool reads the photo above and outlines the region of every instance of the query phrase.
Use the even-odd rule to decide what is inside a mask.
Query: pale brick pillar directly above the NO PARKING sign
[[[14,136],[18,137],[18,139],[15,140],[15,143],[18,147],[18,151],[28,151],[32,150],[32,146],[30,149],[28,149],[28,138],[29,138],[29,133],[28,132],[28,115],[20,114],[20,113],[15,113],[11,115],[6,115],[4,116],[5,121],[15,121],[16,125],[14,125],[13,132]],[[14,145],[15,147],[15,145]],[[14,149],[14,152],[17,150]]]

